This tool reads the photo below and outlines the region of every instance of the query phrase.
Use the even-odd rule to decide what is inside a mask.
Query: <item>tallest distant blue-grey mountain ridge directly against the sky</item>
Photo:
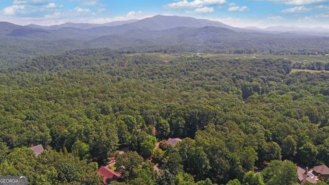
[[[243,29],[231,27],[217,21],[198,19],[183,16],[153,16],[140,21],[115,21],[105,24],[65,23],[62,25],[51,25],[48,27],[39,25],[14,25],[11,23],[0,23],[0,28],[6,32],[0,32],[0,36],[14,38],[25,38],[33,40],[59,40],[73,38],[77,40],[93,40],[101,36],[122,34],[133,30],[162,31],[175,27],[223,27],[237,32]]]

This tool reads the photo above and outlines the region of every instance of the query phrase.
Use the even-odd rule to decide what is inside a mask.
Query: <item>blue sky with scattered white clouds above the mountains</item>
[[[108,23],[157,14],[236,27],[329,28],[329,0],[0,0],[0,21],[19,25]]]

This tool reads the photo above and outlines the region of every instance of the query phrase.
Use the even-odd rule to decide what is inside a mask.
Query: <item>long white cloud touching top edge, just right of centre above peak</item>
[[[180,0],[175,3],[164,5],[164,8],[203,8],[206,5],[219,5],[226,3],[226,0]]]

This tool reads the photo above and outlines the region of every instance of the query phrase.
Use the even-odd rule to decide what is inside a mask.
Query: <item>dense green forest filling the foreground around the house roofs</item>
[[[287,59],[87,49],[2,66],[1,175],[100,184],[116,158],[110,184],[297,184],[297,166],[329,165],[329,73]]]

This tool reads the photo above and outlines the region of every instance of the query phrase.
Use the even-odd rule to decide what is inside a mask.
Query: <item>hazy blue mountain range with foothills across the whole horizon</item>
[[[0,60],[100,47],[127,52],[324,53],[329,38],[327,32],[319,33],[284,27],[239,28],[206,19],[161,15],[105,24],[22,26],[0,22]]]

